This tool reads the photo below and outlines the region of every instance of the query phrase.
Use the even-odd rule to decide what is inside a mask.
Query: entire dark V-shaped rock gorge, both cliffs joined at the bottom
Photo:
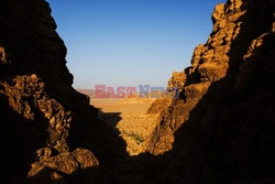
[[[73,87],[44,0],[0,6],[1,183],[275,183],[274,0],[228,0],[139,156]]]

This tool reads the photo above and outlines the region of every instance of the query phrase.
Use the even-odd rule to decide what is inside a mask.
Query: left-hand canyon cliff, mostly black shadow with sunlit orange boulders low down
[[[97,166],[88,149],[77,149],[81,138],[70,136],[97,111],[72,88],[48,3],[3,0],[0,25],[1,183],[51,183]]]

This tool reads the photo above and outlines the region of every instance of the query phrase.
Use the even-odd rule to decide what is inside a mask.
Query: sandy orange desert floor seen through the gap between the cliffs
[[[128,144],[130,155],[144,151],[146,139],[156,126],[158,115],[146,115],[154,98],[91,98],[100,119],[113,129]]]

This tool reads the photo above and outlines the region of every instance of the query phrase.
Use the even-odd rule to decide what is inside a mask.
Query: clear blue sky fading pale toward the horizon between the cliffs
[[[226,0],[47,0],[68,54],[75,88],[165,87],[190,65]]]

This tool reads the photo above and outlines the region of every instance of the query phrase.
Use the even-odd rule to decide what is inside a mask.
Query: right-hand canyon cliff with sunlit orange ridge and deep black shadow
[[[160,181],[274,182],[274,10],[273,0],[216,6],[207,43],[168,83],[179,98],[151,107],[162,115],[147,151],[168,165]]]

